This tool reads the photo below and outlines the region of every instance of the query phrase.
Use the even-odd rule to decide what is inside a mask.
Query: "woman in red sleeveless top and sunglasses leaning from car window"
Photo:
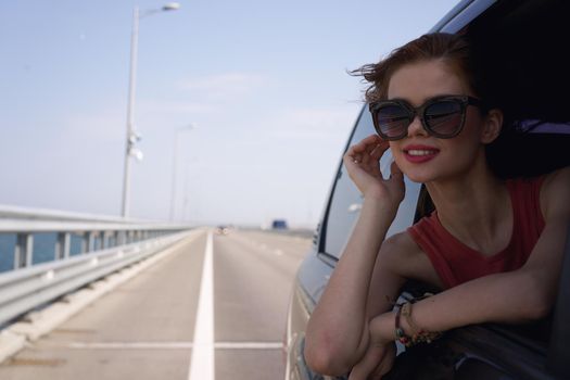
[[[360,69],[378,136],[351,147],[344,165],[364,195],[351,238],[306,331],[305,358],[320,373],[380,379],[395,340],[411,345],[480,322],[545,317],[554,303],[570,215],[570,170],[502,180],[485,145],[503,126],[465,39],[432,34]],[[390,148],[389,179],[379,160]],[[385,239],[405,174],[435,212]],[[406,279],[442,292],[393,311]]]

